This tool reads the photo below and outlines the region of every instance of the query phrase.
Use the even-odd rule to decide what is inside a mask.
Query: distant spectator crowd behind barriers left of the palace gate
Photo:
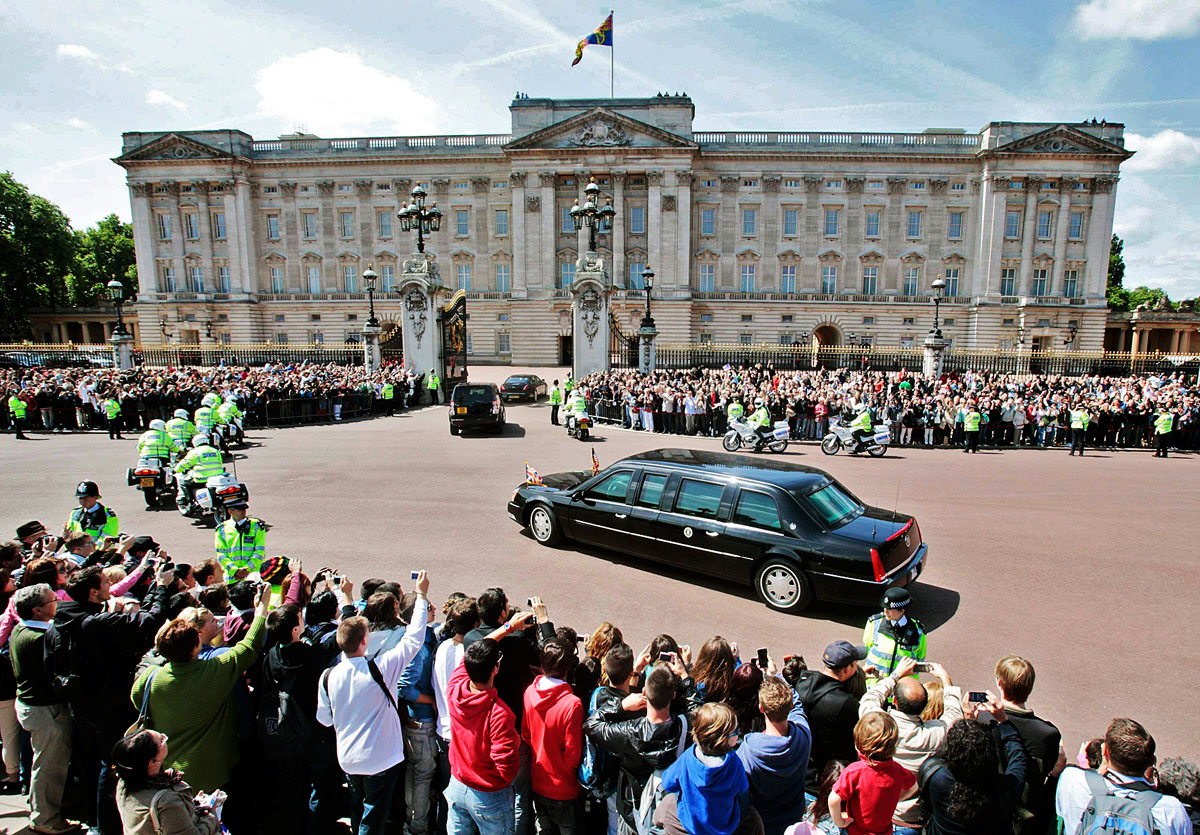
[[[175,409],[193,414],[209,392],[236,397],[248,426],[331,421],[383,412],[388,384],[394,409],[415,407],[427,394],[424,374],[396,364],[373,374],[361,366],[311,362],[131,371],[0,368],[0,425],[11,425],[8,397],[14,394],[26,404],[25,428],[47,432],[108,428],[102,404],[109,397],[120,406],[119,428],[136,432],[151,420],[170,420]]]

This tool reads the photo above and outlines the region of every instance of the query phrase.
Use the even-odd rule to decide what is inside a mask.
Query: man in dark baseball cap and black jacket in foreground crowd
[[[816,795],[821,786],[821,769],[830,759],[847,763],[858,759],[854,750],[854,725],[858,722],[858,698],[847,683],[858,669],[858,661],[866,657],[865,647],[847,641],[834,641],[821,656],[823,669],[805,669],[796,681],[796,695],[804,704],[804,714],[812,728],[812,752],[804,777],[804,791]]]

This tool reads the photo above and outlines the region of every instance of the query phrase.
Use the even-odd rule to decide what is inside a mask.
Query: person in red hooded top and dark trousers
[[[533,750],[530,777],[539,833],[575,835],[575,801],[583,756],[583,704],[572,692],[571,673],[578,657],[562,638],[541,648],[544,674],[524,695],[521,738]]]

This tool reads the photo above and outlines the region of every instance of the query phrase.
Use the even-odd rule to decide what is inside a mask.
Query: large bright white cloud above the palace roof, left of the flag
[[[254,77],[258,109],[323,136],[386,126],[431,133],[437,103],[404,78],[367,66],[353,52],[320,47],[281,58]]]

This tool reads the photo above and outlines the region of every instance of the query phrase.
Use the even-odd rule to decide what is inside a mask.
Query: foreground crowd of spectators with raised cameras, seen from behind
[[[1196,765],[1130,719],[1068,764],[1015,655],[978,693],[911,659],[868,687],[844,641],[811,667],[721,636],[637,650],[500,588],[434,605],[424,571],[355,584],[283,559],[272,587],[149,536],[18,536],[0,792],[29,794],[38,833],[1044,835],[1099,791],[1187,835],[1200,811]]]

